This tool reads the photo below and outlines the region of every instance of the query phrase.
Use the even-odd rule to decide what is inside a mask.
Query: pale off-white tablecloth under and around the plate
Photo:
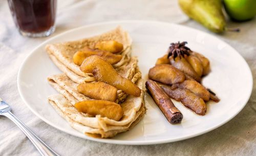
[[[245,58],[256,79],[256,19],[228,21],[240,33],[216,35],[188,19],[176,0],[58,1],[56,31],[46,38],[20,36],[7,1],[0,1],[0,96],[12,112],[60,155],[256,155],[256,85],[245,108],[232,120],[207,134],[174,143],[146,146],[113,145],[77,138],[55,129],[36,117],[17,90],[17,72],[41,42],[82,25],[124,19],[175,22],[210,33],[229,43]],[[239,73],[238,73],[239,74]],[[241,82],[246,83],[246,82]],[[39,155],[32,143],[9,119],[0,117],[0,155]]]

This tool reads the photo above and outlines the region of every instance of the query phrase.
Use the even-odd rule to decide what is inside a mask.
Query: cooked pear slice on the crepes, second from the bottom
[[[80,84],[77,86],[79,93],[90,98],[107,101],[115,101],[117,98],[117,89],[103,82]]]

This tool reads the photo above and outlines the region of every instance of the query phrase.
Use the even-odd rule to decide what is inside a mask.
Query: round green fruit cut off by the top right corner
[[[256,15],[256,0],[224,0],[223,3],[233,20],[250,20]]]

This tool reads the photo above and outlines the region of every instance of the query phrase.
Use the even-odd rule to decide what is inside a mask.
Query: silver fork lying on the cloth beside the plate
[[[40,138],[38,138],[24,123],[22,123],[22,121],[20,121],[11,113],[11,107],[5,101],[3,101],[2,98],[0,98],[0,115],[8,117],[20,129],[22,129],[23,133],[34,144],[34,146],[41,155],[58,155],[46,143],[44,143]]]

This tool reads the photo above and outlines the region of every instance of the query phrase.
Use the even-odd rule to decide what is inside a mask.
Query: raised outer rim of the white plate
[[[85,29],[85,28],[89,28],[89,27],[95,27],[96,25],[103,25],[103,24],[111,24],[111,23],[129,23],[129,22],[139,22],[139,23],[145,23],[145,22],[150,22],[150,23],[156,23],[156,24],[167,24],[167,25],[176,25],[177,27],[182,27],[182,28],[185,28],[185,29],[188,29],[188,30],[191,30],[191,31],[195,31],[195,32],[198,32],[198,33],[203,33],[204,35],[206,36],[210,36],[210,37],[213,37],[215,38],[216,40],[222,42],[222,43],[225,43],[227,46],[229,46],[229,48],[231,48],[233,51],[235,51],[241,58],[242,60],[245,62],[246,64],[246,68],[248,69],[249,71],[249,74],[250,74],[250,94],[249,96],[246,98],[246,102],[241,106],[241,108],[239,108],[239,111],[237,111],[236,113],[232,114],[232,116],[230,116],[228,119],[220,122],[219,124],[215,125],[215,126],[212,126],[212,127],[209,127],[207,129],[204,129],[203,131],[200,131],[200,132],[197,132],[197,133],[194,133],[194,134],[189,134],[189,135],[186,135],[186,136],[183,136],[183,137],[178,137],[178,138],[173,138],[173,139],[161,139],[161,140],[154,140],[154,141],[146,141],[146,140],[143,140],[143,141],[129,141],[129,140],[115,140],[115,139],[98,139],[98,138],[92,138],[92,137],[89,137],[89,136],[86,136],[86,135],[77,135],[76,133],[73,133],[73,132],[69,132],[68,130],[66,129],[63,129],[57,125],[54,125],[50,122],[48,122],[47,119],[45,119],[43,116],[41,116],[39,113],[37,113],[32,107],[30,107],[29,105],[29,102],[26,100],[26,98],[24,97],[24,94],[21,90],[21,84],[20,84],[20,76],[22,74],[22,69],[24,68],[24,65],[25,63],[27,62],[27,60],[32,57],[32,55],[34,53],[36,53],[36,50],[41,47],[42,45],[44,45],[45,43],[51,41],[51,40],[54,40],[55,38],[58,38],[59,36],[61,35],[65,35],[65,34],[68,34],[70,32],[73,32],[73,31],[76,31],[76,30],[79,30],[79,29]],[[230,121],[231,119],[233,119],[235,116],[237,116],[242,110],[243,108],[247,105],[247,102],[249,100],[249,98],[251,97],[251,93],[252,93],[252,89],[253,89],[253,78],[252,78],[252,73],[251,73],[251,69],[248,65],[248,63],[245,61],[245,59],[243,58],[243,56],[236,50],[234,49],[231,45],[229,45],[227,42],[223,41],[222,39],[214,36],[214,35],[211,35],[209,33],[206,33],[206,32],[203,32],[201,30],[197,30],[195,28],[190,28],[190,27],[187,27],[186,25],[181,25],[181,24],[177,24],[177,23],[169,23],[169,22],[164,22],[164,21],[158,21],[158,20],[113,20],[113,21],[106,21],[106,22],[97,22],[97,23],[92,23],[92,24],[87,24],[87,25],[82,25],[81,27],[77,27],[77,28],[73,28],[73,29],[70,29],[70,30],[67,30],[65,32],[62,32],[54,37],[51,37],[47,40],[45,40],[44,42],[40,43],[39,45],[37,45],[35,48],[33,48],[31,50],[31,52],[28,54],[28,56],[25,58],[25,60],[22,62],[22,64],[20,65],[19,67],[19,70],[18,70],[18,74],[17,74],[17,88],[18,88],[18,93],[20,95],[20,97],[22,98],[23,102],[25,103],[25,105],[30,109],[30,111],[32,113],[34,113],[38,118],[40,118],[41,120],[43,120],[44,122],[46,122],[47,124],[51,125],[52,127],[58,129],[59,131],[62,131],[62,132],[65,132],[69,135],[73,135],[73,136],[76,136],[76,137],[79,137],[79,138],[83,138],[83,139],[88,139],[88,140],[92,140],[92,141],[97,141],[97,142],[102,142],[102,143],[110,143],[110,144],[122,144],[122,145],[151,145],[151,144],[163,144],[163,143],[169,143],[169,142],[176,142],[176,141],[181,141],[181,140],[185,140],[185,139],[189,139],[189,138],[194,138],[196,136],[200,136],[202,134],[206,134],[222,125],[224,125],[225,123],[227,123],[228,121]]]

